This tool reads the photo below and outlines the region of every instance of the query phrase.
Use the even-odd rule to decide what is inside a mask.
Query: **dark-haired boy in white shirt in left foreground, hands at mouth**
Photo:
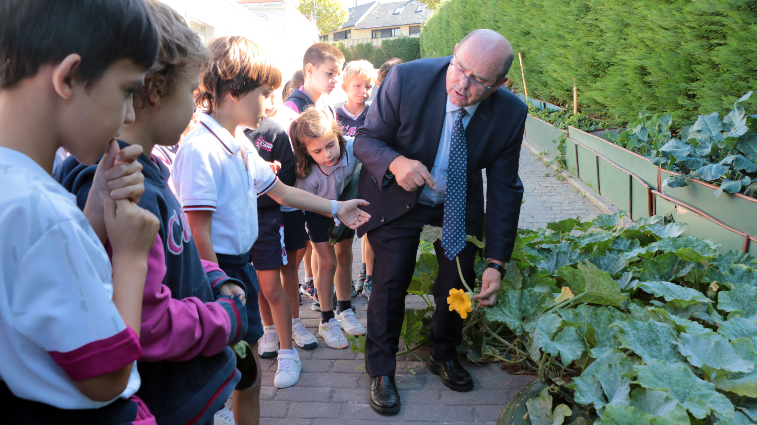
[[[156,54],[141,0],[0,2],[4,423],[154,423],[134,364],[158,222],[136,205],[141,148],[111,139]],[[59,147],[104,154],[84,213],[51,178]]]

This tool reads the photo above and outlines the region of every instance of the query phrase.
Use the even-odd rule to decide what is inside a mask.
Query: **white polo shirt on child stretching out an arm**
[[[278,181],[247,138],[207,113],[176,152],[171,178],[184,211],[213,212],[213,250],[234,256],[257,240],[257,197]]]

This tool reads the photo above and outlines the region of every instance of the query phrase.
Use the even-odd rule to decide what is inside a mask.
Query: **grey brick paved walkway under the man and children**
[[[544,174],[549,172],[550,176]],[[581,216],[591,219],[600,213],[571,185],[552,176],[525,147],[521,150],[520,176],[525,186],[526,202],[521,209],[519,225],[525,228],[544,227],[548,222]],[[354,275],[360,271],[360,240],[354,242]],[[303,270],[301,268],[301,277]],[[366,299],[353,299],[357,318],[366,324]],[[418,296],[407,296],[407,306],[422,307]],[[319,312],[310,310],[310,299],[300,307],[303,323],[317,335]],[[264,425],[375,425],[382,423],[496,423],[509,399],[531,377],[508,374],[498,364],[474,365],[464,361],[475,380],[471,392],[453,392],[428,371],[414,355],[397,358],[397,387],[400,389],[402,411],[393,417],[376,414],[368,405],[369,377],[365,373],[363,355],[349,349],[330,349],[318,337],[313,350],[299,349],[302,359],[300,381],[291,388],[273,387],[276,359],[263,359],[263,389],[260,394],[260,423]],[[402,350],[403,347],[400,347]],[[428,349],[418,349],[422,359]],[[412,371],[410,371],[412,369]],[[413,374],[415,372],[415,374]],[[227,405],[231,405],[229,403]]]

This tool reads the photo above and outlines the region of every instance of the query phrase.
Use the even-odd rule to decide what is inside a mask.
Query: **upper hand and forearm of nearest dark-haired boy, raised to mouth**
[[[128,198],[139,203],[139,198],[145,191],[142,164],[137,161],[141,154],[142,146],[139,144],[119,150],[118,142],[114,139],[98,163],[83,212],[103,244],[107,238],[103,207],[105,199]]]

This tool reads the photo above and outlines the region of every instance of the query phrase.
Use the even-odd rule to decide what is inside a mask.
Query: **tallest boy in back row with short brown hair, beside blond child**
[[[305,82],[300,87],[294,87],[285,106],[302,113],[308,105],[315,105],[334,117],[334,109],[326,104],[322,95],[330,95],[334,90],[342,65],[344,54],[335,45],[323,42],[311,45],[302,58]]]

